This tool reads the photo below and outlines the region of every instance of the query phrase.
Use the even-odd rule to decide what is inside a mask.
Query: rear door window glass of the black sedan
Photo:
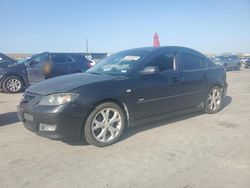
[[[190,54],[182,54],[181,56],[182,58],[182,68],[183,70],[199,70],[202,69],[202,59],[194,56],[194,55],[190,55]]]

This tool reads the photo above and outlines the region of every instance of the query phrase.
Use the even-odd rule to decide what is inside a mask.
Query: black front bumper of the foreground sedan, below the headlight
[[[86,111],[76,104],[57,107],[34,107],[25,105],[17,106],[18,117],[24,127],[39,136],[51,139],[80,138]],[[56,126],[53,131],[39,129],[41,124]]]

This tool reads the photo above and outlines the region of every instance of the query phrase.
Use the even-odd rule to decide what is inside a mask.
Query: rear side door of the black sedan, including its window
[[[182,108],[198,106],[203,100],[209,82],[203,57],[195,53],[181,52],[180,61],[183,78]]]

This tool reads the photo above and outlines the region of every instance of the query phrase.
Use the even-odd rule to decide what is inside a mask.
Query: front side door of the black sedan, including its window
[[[176,111],[180,108],[182,80],[176,53],[162,53],[145,66],[157,66],[159,73],[140,75],[133,80],[134,119]]]

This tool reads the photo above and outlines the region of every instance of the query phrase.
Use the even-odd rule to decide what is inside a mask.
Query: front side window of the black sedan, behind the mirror
[[[175,55],[174,54],[161,54],[155,57],[148,66],[156,66],[160,72],[167,70],[175,70]]]

